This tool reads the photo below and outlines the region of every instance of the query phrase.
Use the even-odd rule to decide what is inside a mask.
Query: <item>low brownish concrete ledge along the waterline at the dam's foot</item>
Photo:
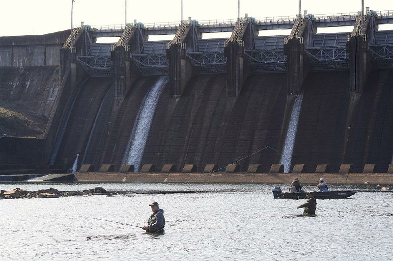
[[[304,184],[389,184],[393,173],[75,173],[79,182],[171,182],[171,183],[272,183],[290,184],[298,177]]]

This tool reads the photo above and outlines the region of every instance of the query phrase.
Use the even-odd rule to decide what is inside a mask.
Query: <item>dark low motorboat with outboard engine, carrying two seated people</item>
[[[316,199],[344,199],[348,198],[356,193],[356,191],[328,191],[328,192],[311,192]],[[275,199],[305,199],[307,195],[306,191],[301,190],[300,192],[282,192],[280,187],[273,189],[273,196]]]

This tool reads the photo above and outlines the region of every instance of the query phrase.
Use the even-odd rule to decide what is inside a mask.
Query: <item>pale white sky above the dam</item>
[[[127,23],[180,21],[181,0],[127,0]],[[125,0],[75,0],[74,26],[124,24]],[[393,0],[364,0],[375,11],[392,10]],[[361,0],[301,0],[301,12],[338,14],[357,12]],[[240,0],[240,16],[295,16],[299,0]],[[0,36],[38,35],[71,27],[71,0],[0,0]],[[183,0],[183,20],[236,19],[238,0]]]

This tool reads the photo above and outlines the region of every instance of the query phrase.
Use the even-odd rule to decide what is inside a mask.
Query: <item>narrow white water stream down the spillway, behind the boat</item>
[[[291,159],[293,152],[293,145],[296,138],[296,130],[298,129],[300,109],[303,101],[303,93],[295,98],[293,103],[291,119],[289,120],[288,130],[286,131],[285,144],[282,149],[280,164],[284,165],[284,172],[288,173],[291,168]]]

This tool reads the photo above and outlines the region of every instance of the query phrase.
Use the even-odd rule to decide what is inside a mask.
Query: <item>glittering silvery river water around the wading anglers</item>
[[[330,185],[358,193],[317,200],[317,216],[306,217],[296,209],[305,200],[273,199],[275,184],[0,183],[3,190],[96,186],[126,193],[0,200],[0,260],[393,259],[393,193],[375,186]],[[164,235],[95,219],[143,226],[151,201],[165,211]]]

